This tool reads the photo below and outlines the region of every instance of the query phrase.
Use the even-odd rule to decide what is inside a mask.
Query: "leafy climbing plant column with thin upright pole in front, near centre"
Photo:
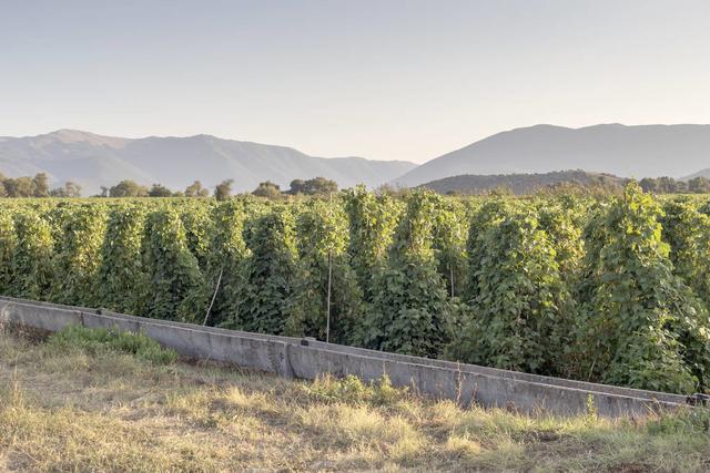
[[[347,219],[344,212],[337,204],[313,200],[298,216],[297,234],[298,263],[286,335],[326,339],[329,275],[329,341],[349,343],[356,340],[363,317],[363,296],[345,251]]]

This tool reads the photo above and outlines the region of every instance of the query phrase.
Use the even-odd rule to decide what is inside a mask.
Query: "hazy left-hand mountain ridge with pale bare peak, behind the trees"
[[[79,183],[84,194],[98,193],[121,179],[160,183],[183,189],[199,179],[214,186],[233,178],[235,192],[253,191],[260,182],[282,187],[295,178],[327,177],[341,187],[375,187],[414,168],[404,161],[363,157],[315,157],[297,150],[212,135],[124,138],[78,130],[0,137],[0,173],[17,177],[48,173],[53,185]]]

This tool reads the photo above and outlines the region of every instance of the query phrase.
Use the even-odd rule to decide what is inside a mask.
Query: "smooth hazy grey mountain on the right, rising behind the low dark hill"
[[[681,177],[710,167],[710,125],[535,125],[497,133],[393,179],[417,186],[464,174],[585,169],[622,177]]]

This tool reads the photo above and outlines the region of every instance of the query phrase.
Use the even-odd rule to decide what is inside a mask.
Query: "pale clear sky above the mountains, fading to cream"
[[[0,0],[0,135],[425,162],[549,123],[710,123],[710,2]]]

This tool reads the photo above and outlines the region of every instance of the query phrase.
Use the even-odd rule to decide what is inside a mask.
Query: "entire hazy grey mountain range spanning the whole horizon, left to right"
[[[79,183],[84,194],[121,179],[182,189],[233,178],[235,192],[272,181],[323,176],[341,188],[355,184],[414,187],[460,175],[545,174],[565,169],[619,177],[710,176],[710,125],[600,124],[580,128],[535,125],[477,141],[417,166],[406,161],[315,157],[297,150],[211,135],[124,138],[75,130],[0,137],[0,173],[40,172],[52,185]],[[699,171],[701,169],[701,171]]]

